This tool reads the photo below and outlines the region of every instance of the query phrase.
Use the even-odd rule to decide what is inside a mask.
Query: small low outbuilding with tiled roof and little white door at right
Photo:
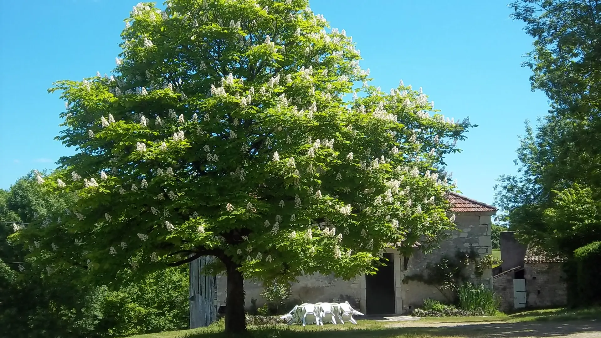
[[[562,264],[565,257],[527,247],[516,241],[513,232],[502,232],[501,259],[504,271],[493,276],[493,289],[501,297],[501,310],[513,312],[525,307],[567,304],[567,281]]]

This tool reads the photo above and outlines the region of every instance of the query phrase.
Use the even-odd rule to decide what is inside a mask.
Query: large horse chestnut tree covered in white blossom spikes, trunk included
[[[384,248],[453,229],[442,156],[469,121],[402,81],[368,85],[352,38],[307,0],[141,3],[121,36],[114,75],[50,89],[66,100],[58,139],[80,152],[38,176],[76,206],[19,235],[49,271],[114,278],[212,256],[234,332],[243,278],[352,278]]]

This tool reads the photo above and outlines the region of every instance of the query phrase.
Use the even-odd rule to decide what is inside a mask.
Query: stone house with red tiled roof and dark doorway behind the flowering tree
[[[450,238],[443,241],[440,248],[432,254],[423,254],[415,250],[412,256],[403,257],[397,250],[388,249],[383,253],[389,259],[387,266],[380,267],[376,275],[358,275],[349,281],[336,278],[334,275],[300,276],[297,278],[297,283],[291,287],[291,299],[307,303],[349,301],[353,307],[370,315],[407,313],[415,307],[422,306],[425,298],[448,301],[449,295],[441,293],[435,286],[421,281],[407,280],[405,277],[421,274],[429,263],[438,263],[443,256],[454,256],[457,251],[472,253],[479,257],[490,254],[492,252],[490,217],[496,214],[497,209],[456,193],[449,194],[447,198],[453,205],[451,210],[456,214],[457,230],[449,233]],[[210,319],[204,318],[213,316],[212,313],[218,312],[218,307],[225,306],[227,277],[198,275],[202,264],[196,263],[196,267],[191,268],[190,309],[193,328],[208,325]],[[492,287],[491,269],[484,270],[482,274],[475,274],[472,266],[469,273],[472,283]],[[252,300],[255,300],[257,306],[264,304],[260,296],[263,290],[260,282],[246,280],[244,287],[246,306],[250,306]],[[201,292],[203,288],[204,292]],[[204,293],[206,297],[200,293]],[[193,325],[192,321],[201,324]]]

